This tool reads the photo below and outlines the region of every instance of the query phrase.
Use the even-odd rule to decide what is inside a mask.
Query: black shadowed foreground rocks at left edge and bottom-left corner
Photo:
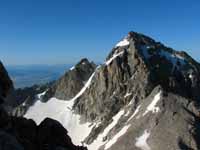
[[[0,99],[13,89],[3,65],[0,64]],[[0,105],[0,149],[1,150],[87,150],[75,146],[67,134],[67,130],[53,119],[45,119],[40,125],[33,120],[9,116]]]

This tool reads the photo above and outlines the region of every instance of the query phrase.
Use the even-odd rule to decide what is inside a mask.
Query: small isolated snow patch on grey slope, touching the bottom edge
[[[151,148],[149,147],[147,143],[149,136],[150,136],[150,132],[145,130],[143,135],[136,139],[135,146],[137,146],[141,150],[151,150]]]

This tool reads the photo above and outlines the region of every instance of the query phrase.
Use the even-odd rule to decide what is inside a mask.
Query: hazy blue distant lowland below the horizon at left
[[[29,87],[57,80],[72,65],[6,66],[15,88]]]

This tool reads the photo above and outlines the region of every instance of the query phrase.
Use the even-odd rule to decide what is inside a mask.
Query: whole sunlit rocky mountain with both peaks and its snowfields
[[[101,65],[82,59],[44,91],[24,115],[40,124],[26,120],[42,144],[67,149],[68,133],[88,150],[200,149],[200,64],[143,34],[129,32]]]

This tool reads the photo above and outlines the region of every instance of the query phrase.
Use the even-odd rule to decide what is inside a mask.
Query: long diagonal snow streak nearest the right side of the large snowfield
[[[115,127],[115,125],[118,123],[119,119],[121,118],[121,116],[124,114],[124,110],[119,111],[112,119],[112,123],[109,124],[103,131],[103,133],[99,134],[97,139],[91,143],[90,145],[88,145],[88,149],[89,150],[97,150],[100,146],[104,145],[107,141],[103,141],[103,138],[105,136],[107,136],[107,134],[109,133],[109,131]]]

